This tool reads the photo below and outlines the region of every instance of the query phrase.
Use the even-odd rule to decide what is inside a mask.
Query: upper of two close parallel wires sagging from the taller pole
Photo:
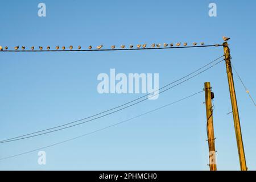
[[[210,63],[205,64],[203,67],[201,67],[201,68],[199,68],[199,69],[196,69],[196,71],[193,71],[193,72],[189,73],[188,75],[185,75],[184,77],[181,77],[181,78],[179,78],[178,80],[175,80],[175,81],[171,82],[170,84],[167,84],[167,85],[163,86],[162,88],[160,88],[160,89],[158,89],[158,90],[155,90],[155,92],[156,92],[156,91],[159,91],[159,90],[162,90],[162,89],[166,88],[167,86],[170,86],[170,85],[174,84],[175,82],[178,82],[178,81],[180,81],[180,80],[183,80],[184,78],[186,78],[186,77],[188,77],[188,76],[193,75],[194,73],[200,71],[201,69],[203,69],[203,68],[207,67],[208,65],[214,63],[215,61],[221,59],[221,57],[224,57],[224,56],[220,56],[220,57],[218,57],[217,59],[214,59],[213,61],[210,61]],[[149,96],[150,94],[152,94],[152,93],[148,93],[148,94],[146,94],[146,95],[144,95],[144,96],[142,96],[142,97],[139,97],[139,98],[137,98],[137,99],[135,99],[135,100],[126,102],[125,104],[119,105],[119,106],[117,106],[117,107],[113,107],[112,109],[108,109],[108,110],[102,111],[102,112],[100,112],[100,113],[91,115],[91,116],[86,117],[86,118],[78,119],[78,120],[73,121],[73,122],[65,123],[64,125],[59,125],[59,126],[51,127],[51,128],[44,129],[44,130],[40,130],[40,131],[36,131],[36,132],[33,132],[33,133],[29,133],[29,134],[25,134],[25,135],[20,135],[20,136],[18,136],[18,137],[14,137],[14,138],[9,138],[9,139],[5,139],[5,140],[1,140],[0,143],[5,143],[5,142],[7,142],[8,140],[13,140],[13,139],[21,138],[21,137],[26,137],[26,136],[28,136],[28,135],[32,135],[32,134],[36,134],[36,133],[41,133],[41,132],[43,132],[43,131],[48,131],[48,130],[52,130],[52,129],[57,129],[57,128],[59,128],[59,127],[71,125],[72,123],[77,123],[77,122],[80,122],[80,121],[84,121],[85,119],[89,119],[89,118],[96,117],[97,115],[104,114],[104,113],[106,113],[106,112],[108,112],[108,111],[111,111],[111,110],[114,110],[114,109],[118,109],[119,107],[125,106],[125,105],[130,104],[130,103],[135,102],[135,101],[138,101],[138,100],[140,100],[141,98],[144,98],[144,97]]]

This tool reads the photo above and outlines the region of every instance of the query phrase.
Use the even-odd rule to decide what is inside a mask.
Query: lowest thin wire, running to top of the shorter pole
[[[8,156],[8,157],[6,157],[6,158],[1,158],[0,160],[10,159],[10,158],[14,158],[14,157],[16,157],[16,156],[20,156],[20,155],[24,155],[24,154],[29,154],[29,153],[31,153],[31,152],[35,152],[35,151],[38,151],[38,150],[43,150],[43,149],[45,149],[45,148],[53,147],[53,146],[59,145],[59,144],[61,144],[61,143],[65,143],[65,142],[69,142],[69,141],[71,141],[71,140],[75,140],[75,139],[78,139],[78,138],[81,138],[81,137],[85,137],[86,135],[90,135],[90,134],[97,133],[98,131],[102,131],[102,130],[109,129],[110,127],[120,125],[120,124],[122,124],[122,123],[125,123],[125,122],[131,121],[131,120],[133,120],[133,119],[142,117],[143,115],[150,114],[150,113],[153,113],[154,111],[163,109],[164,107],[167,107],[167,106],[176,104],[177,102],[186,100],[186,99],[188,99],[188,98],[190,98],[190,97],[193,97],[193,96],[196,96],[197,94],[202,93],[202,92],[204,92],[204,90],[201,90],[200,92],[196,92],[196,93],[194,93],[194,94],[192,94],[192,95],[190,95],[190,96],[181,98],[180,100],[177,100],[177,101],[175,101],[175,102],[171,102],[170,104],[167,104],[167,105],[158,107],[158,108],[156,108],[156,109],[147,111],[146,113],[139,114],[139,115],[137,115],[137,116],[135,116],[135,117],[132,117],[132,118],[126,119],[126,120],[124,120],[124,121],[115,123],[115,124],[113,124],[113,125],[104,127],[104,128],[102,128],[102,129],[98,129],[98,130],[92,131],[92,132],[90,132],[90,133],[86,133],[86,134],[83,134],[83,135],[80,135],[80,136],[78,136],[78,137],[74,137],[74,138],[71,138],[71,139],[63,140],[63,141],[61,141],[61,142],[57,142],[57,143],[54,143],[54,144],[51,144],[51,145],[48,145],[48,146],[45,146],[45,147],[36,148],[35,150],[31,150],[31,151],[27,151],[27,152],[22,152],[22,153],[16,154],[16,155],[11,155],[11,156]]]

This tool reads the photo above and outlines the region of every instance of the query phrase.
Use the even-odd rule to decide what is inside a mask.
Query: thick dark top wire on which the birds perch
[[[181,47],[152,47],[152,48],[118,48],[118,49],[57,49],[57,50],[5,50],[0,52],[90,52],[90,51],[138,51],[152,49],[176,49],[176,48],[199,48],[199,47],[219,47],[222,44],[204,45],[204,46],[181,46]]]

